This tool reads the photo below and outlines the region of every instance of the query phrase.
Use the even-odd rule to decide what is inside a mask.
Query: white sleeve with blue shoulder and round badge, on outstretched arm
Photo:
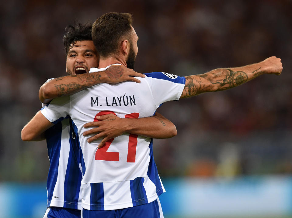
[[[166,101],[179,100],[185,87],[185,77],[164,72],[145,73],[145,75],[157,107]]]

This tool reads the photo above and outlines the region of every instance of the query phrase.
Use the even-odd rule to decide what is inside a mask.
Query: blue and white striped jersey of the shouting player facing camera
[[[55,125],[45,132],[50,160],[47,207],[82,209],[79,138],[73,130],[70,116],[54,123]]]

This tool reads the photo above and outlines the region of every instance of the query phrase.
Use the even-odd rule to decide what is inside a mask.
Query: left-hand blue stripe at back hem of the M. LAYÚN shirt
[[[104,210],[103,182],[90,183],[90,210]]]

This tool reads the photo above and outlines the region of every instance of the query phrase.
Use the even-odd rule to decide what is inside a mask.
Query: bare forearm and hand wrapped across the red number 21
[[[119,118],[114,114],[106,114],[98,116],[96,119],[100,121],[84,124],[84,128],[93,128],[85,131],[83,135],[97,134],[89,138],[88,142],[103,138],[98,145],[99,148],[107,140],[125,132],[149,138],[171,138],[177,134],[176,126],[159,113],[147,118]]]

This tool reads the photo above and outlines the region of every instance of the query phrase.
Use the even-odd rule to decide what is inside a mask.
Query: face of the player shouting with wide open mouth
[[[70,46],[66,59],[66,72],[69,75],[88,73],[92,67],[98,67],[99,57],[91,40],[76,41]]]

